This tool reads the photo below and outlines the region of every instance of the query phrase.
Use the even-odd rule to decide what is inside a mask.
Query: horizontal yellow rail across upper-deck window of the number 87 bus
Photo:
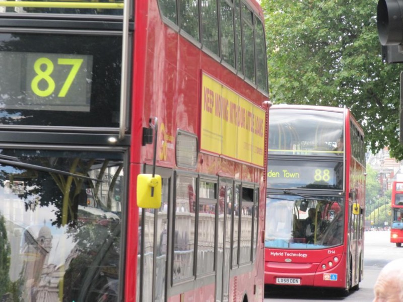
[[[62,8],[62,9],[124,9],[124,3],[94,2],[43,2],[43,1],[0,1],[0,7]]]

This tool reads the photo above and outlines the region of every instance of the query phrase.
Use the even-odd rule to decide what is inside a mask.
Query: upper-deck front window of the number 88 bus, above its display
[[[343,156],[341,112],[278,109],[269,128],[269,154]]]

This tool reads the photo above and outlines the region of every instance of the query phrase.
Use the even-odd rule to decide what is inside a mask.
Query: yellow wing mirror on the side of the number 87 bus
[[[160,175],[139,174],[137,176],[137,205],[141,208],[161,207],[162,180]]]

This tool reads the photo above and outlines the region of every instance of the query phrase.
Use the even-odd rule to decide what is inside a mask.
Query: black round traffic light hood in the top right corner
[[[378,37],[382,45],[403,43],[403,0],[379,0],[376,14]]]

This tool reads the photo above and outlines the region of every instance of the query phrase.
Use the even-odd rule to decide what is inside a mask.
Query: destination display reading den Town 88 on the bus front
[[[267,187],[341,189],[343,168],[337,162],[276,162],[268,165]]]

